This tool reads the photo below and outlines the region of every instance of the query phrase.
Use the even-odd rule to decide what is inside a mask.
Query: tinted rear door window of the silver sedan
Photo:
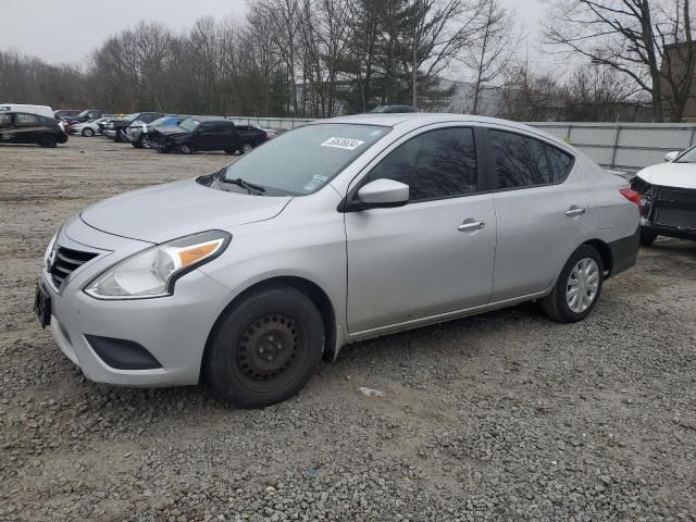
[[[573,158],[545,141],[490,129],[498,188],[533,187],[566,181]]]

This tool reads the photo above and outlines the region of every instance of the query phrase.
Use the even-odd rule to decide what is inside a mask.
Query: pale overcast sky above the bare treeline
[[[504,2],[517,4],[531,33],[530,58],[538,59],[533,41],[544,5],[539,0]],[[0,50],[80,65],[105,38],[141,20],[178,32],[206,15],[243,17],[245,4],[246,0],[2,0]]]

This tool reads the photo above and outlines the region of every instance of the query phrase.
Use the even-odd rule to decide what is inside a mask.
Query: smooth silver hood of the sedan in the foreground
[[[99,231],[157,244],[270,220],[291,199],[215,190],[187,179],[105,199],[83,210],[80,217]]]

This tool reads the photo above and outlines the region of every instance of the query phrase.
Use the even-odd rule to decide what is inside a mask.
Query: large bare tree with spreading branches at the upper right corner
[[[652,100],[652,119],[681,121],[695,50],[689,0],[549,0],[549,44],[631,77]],[[668,52],[669,51],[669,52]]]

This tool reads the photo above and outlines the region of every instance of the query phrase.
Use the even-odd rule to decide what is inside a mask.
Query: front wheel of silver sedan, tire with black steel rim
[[[237,408],[264,408],[296,395],[314,375],[324,325],[312,300],[286,286],[249,295],[223,313],[203,372]]]

